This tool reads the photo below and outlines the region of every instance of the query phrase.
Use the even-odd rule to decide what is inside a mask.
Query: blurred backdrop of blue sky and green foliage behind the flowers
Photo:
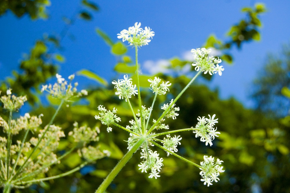
[[[161,106],[193,77],[191,49],[211,48],[222,58],[222,76],[200,76],[177,102],[180,116],[168,125],[188,128],[198,116],[216,114],[221,135],[214,145],[206,147],[194,134],[183,134],[178,152],[197,163],[204,154],[218,157],[226,172],[206,187],[199,169],[159,150],[164,157],[162,176],[149,179],[138,171],[141,160],[136,153],[108,192],[290,192],[289,9],[286,0],[1,1],[1,90],[27,95],[29,103],[19,114],[44,113],[45,119],[54,113],[55,101],[40,93],[41,84],[55,82],[56,73],[75,73],[79,88],[88,89],[89,95],[64,108],[56,123],[66,133],[75,120],[99,125],[99,143],[113,152],[72,176],[14,191],[94,192],[126,153],[128,135],[118,129],[107,134],[93,116],[102,104],[122,109],[118,113],[123,124],[132,119],[110,82],[123,74],[133,76],[134,49],[117,39],[117,33],[141,22],[155,32],[149,45],[139,49],[147,105],[153,100],[146,89],[148,78],[159,76],[173,83],[171,95],[158,99]],[[68,157],[52,173],[81,161]]]

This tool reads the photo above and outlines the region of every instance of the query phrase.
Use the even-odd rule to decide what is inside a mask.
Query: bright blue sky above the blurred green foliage
[[[278,54],[282,44],[289,42],[290,3],[284,1],[220,0],[220,1],[95,1],[100,11],[93,13],[93,21],[78,19],[66,36],[59,51],[66,61],[59,64],[59,74],[67,77],[86,68],[106,78],[108,82],[116,76],[113,68],[116,58],[110,48],[95,33],[96,28],[105,31],[113,41],[117,33],[135,22],[149,26],[155,32],[148,46],[139,51],[139,63],[145,71],[148,61],[155,64],[162,59],[183,57],[193,48],[201,47],[207,37],[215,34],[226,39],[226,32],[245,17],[240,10],[255,3],[264,3],[267,12],[261,16],[261,41],[243,44],[242,49],[233,48],[234,64],[224,63],[222,76],[215,76],[209,83],[211,88],[220,89],[220,97],[234,96],[247,107],[253,107],[249,100],[252,81],[262,69],[268,53]],[[65,27],[62,17],[72,17],[80,8],[78,0],[51,0],[47,8],[47,20],[31,21],[27,16],[20,19],[11,12],[0,17],[0,79],[17,70],[23,53],[28,53],[37,39],[43,35],[56,35]],[[128,47],[128,55],[134,58],[134,50]],[[77,77],[81,88],[97,84]]]

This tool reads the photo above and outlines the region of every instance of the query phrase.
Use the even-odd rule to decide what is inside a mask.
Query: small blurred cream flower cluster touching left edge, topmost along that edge
[[[11,95],[11,89],[8,89],[6,94],[7,95],[2,96],[0,100],[3,103],[4,109],[8,111],[17,111],[23,106],[24,102],[27,101],[26,96],[16,97],[15,95]]]

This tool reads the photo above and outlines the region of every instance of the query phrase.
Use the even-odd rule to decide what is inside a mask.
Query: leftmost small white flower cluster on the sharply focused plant
[[[117,115],[114,114],[117,112],[117,109],[115,109],[115,107],[114,107],[112,112],[110,110],[107,111],[107,109],[105,107],[103,107],[103,105],[99,105],[98,109],[101,112],[99,113],[100,115],[95,116],[95,119],[99,119],[103,125],[107,125],[108,132],[112,131],[112,128],[109,127],[109,124],[113,123],[115,121],[116,122],[121,121],[121,118],[117,117]]]

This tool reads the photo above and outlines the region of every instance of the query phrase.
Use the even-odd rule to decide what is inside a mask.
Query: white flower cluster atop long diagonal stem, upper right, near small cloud
[[[193,53],[193,57],[196,61],[193,62],[192,66],[195,66],[196,71],[202,69],[204,74],[209,73],[210,75],[213,75],[214,73],[218,72],[220,76],[222,75],[222,71],[224,71],[224,68],[223,66],[219,65],[222,60],[219,59],[219,57],[209,57],[208,55],[211,53],[211,49],[197,48],[192,49],[191,52]]]

